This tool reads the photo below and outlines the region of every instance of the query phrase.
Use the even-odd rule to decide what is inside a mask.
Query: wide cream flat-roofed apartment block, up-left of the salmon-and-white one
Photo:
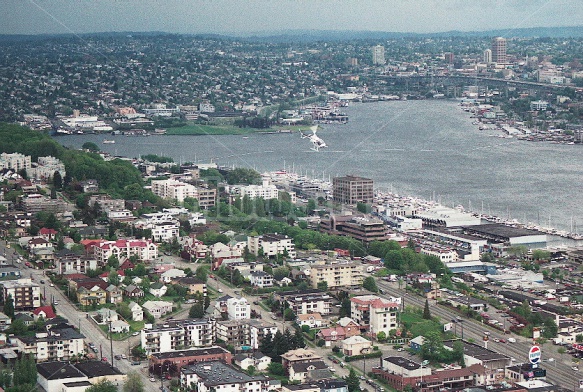
[[[327,282],[329,289],[360,286],[364,280],[363,266],[357,263],[330,263],[313,265],[308,282],[317,288],[319,282]]]

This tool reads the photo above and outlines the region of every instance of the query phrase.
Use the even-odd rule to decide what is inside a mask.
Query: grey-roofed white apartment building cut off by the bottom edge
[[[221,361],[209,361],[183,367],[180,385],[184,388],[194,385],[198,392],[267,392],[269,378],[249,376]]]

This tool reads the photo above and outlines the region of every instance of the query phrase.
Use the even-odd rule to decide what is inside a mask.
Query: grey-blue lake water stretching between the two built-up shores
[[[329,148],[314,152],[298,134],[242,136],[59,137],[66,146],[94,141],[102,150],[137,157],[154,153],[177,162],[209,162],[259,171],[292,166],[314,177],[356,174],[377,187],[435,198],[448,206],[583,232],[583,146],[490,137],[451,101],[354,104],[350,122],[323,125]],[[578,229],[578,226],[582,226]]]

